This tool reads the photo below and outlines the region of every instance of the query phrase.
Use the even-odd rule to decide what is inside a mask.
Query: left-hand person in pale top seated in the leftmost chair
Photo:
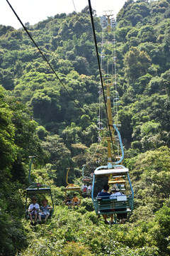
[[[28,211],[30,216],[30,225],[37,225],[37,218],[39,219],[39,224],[41,224],[41,216],[38,214],[40,210],[40,206],[37,202],[36,198],[32,199],[32,203],[30,204]],[[33,216],[34,216],[34,223],[33,223]]]

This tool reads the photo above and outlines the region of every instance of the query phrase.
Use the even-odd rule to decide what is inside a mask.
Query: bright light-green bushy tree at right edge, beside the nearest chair
[[[150,203],[154,211],[169,198],[169,156],[169,148],[161,146],[137,156],[132,168],[132,184],[139,203],[143,206]]]

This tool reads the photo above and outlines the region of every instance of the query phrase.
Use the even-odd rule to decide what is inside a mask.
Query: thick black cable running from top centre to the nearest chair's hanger
[[[91,0],[88,0],[88,1],[89,1],[89,11],[90,11],[90,15],[91,15],[91,26],[92,26],[93,33],[94,33],[94,43],[95,43],[95,48],[96,48],[97,60],[98,60],[98,70],[99,70],[99,74],[100,74],[100,78],[101,78],[103,99],[104,99],[104,105],[105,105],[105,110],[106,110],[106,116],[107,116],[107,120],[108,120],[108,129],[109,129],[109,133],[110,133],[110,137],[111,137],[113,153],[114,153],[114,156],[115,156],[115,149],[114,149],[114,146],[113,146],[113,138],[112,138],[112,134],[111,134],[111,125],[109,124],[109,119],[108,119],[108,110],[107,110],[107,105],[106,105],[106,96],[105,96],[105,93],[104,93],[103,78],[102,78],[102,74],[101,74],[101,65],[100,65],[100,60],[99,60],[99,55],[98,55],[98,46],[97,46],[96,33],[95,33],[95,28],[94,28],[94,18],[93,18],[93,14],[92,14]]]

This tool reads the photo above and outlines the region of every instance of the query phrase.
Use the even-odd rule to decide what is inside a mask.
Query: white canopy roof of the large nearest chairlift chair
[[[103,169],[103,170],[95,170],[94,175],[101,177],[101,176],[118,176],[123,174],[128,174],[128,168],[118,168],[118,169]]]

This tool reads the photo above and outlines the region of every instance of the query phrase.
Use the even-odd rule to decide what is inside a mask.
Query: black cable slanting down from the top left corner
[[[23,25],[23,22],[21,21],[21,18],[19,18],[18,14],[16,14],[16,11],[13,9],[13,7],[11,6],[11,4],[9,3],[8,0],[6,0],[8,5],[11,7],[13,13],[16,15],[16,17],[18,18],[18,21],[21,23],[21,25],[23,26],[24,30],[26,31],[26,33],[28,34],[29,38],[31,39],[31,41],[33,41],[34,45],[36,48],[38,48],[40,54],[42,55],[42,58],[46,61],[46,63],[49,65],[50,69],[52,70],[52,72],[55,74],[56,78],[60,81],[60,83],[62,84],[62,86],[64,87],[64,89],[67,91],[69,97],[72,99],[72,101],[74,102],[75,105],[77,105],[77,102],[74,100],[74,98],[72,97],[72,95],[69,93],[69,91],[67,90],[67,87],[64,85],[64,83],[62,82],[62,80],[59,78],[59,76],[57,75],[57,73],[55,72],[54,68],[52,68],[52,65],[50,64],[50,62],[47,60],[47,58],[45,57],[44,53],[42,53],[42,50],[40,50],[38,44],[34,41],[33,37],[30,35],[30,33],[28,32],[26,26]],[[78,105],[77,105],[78,107]]]

